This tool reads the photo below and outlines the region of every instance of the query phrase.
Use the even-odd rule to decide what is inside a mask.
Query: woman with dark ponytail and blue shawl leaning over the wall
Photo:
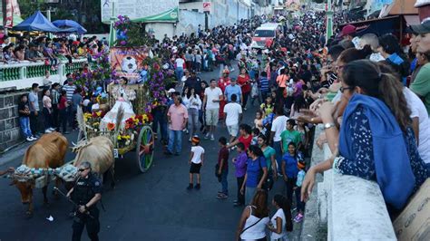
[[[319,108],[327,136],[329,132],[339,135],[340,157],[327,159],[308,170],[302,199],[308,198],[315,174],[333,166],[344,175],[375,179],[388,209],[399,210],[429,177],[416,149],[402,84],[367,60],[347,63],[342,80],[341,92],[348,103],[340,132],[334,124],[332,104],[325,102]]]

